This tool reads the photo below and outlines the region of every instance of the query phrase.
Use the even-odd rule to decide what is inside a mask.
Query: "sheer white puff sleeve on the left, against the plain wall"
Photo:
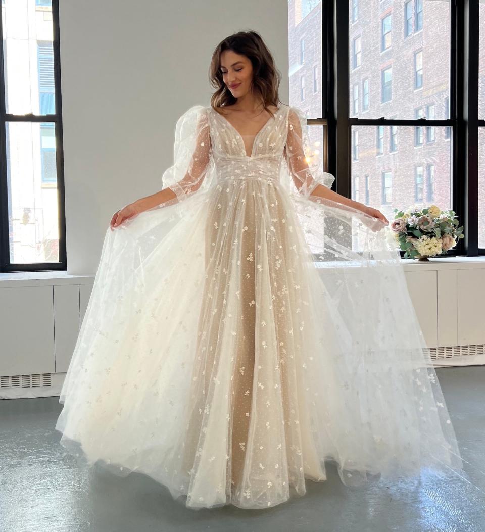
[[[182,114],[175,126],[173,165],[163,173],[163,188],[173,190],[180,202],[202,185],[211,156],[207,109],[194,105]]]

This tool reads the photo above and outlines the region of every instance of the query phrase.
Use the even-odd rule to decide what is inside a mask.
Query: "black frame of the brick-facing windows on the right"
[[[308,120],[315,125],[325,124],[325,168],[336,177],[332,189],[345,197],[350,197],[351,190],[353,129],[378,124],[416,126],[418,123],[415,119],[386,118],[385,106],[381,118],[360,118],[349,114],[349,53],[352,51],[350,37],[353,37],[349,18],[349,2],[322,0],[325,52],[322,116]],[[466,3],[450,0],[449,32],[449,117],[441,118],[444,103],[436,102],[439,118],[421,120],[426,126],[436,126],[439,138],[444,135],[441,131],[450,132],[450,208],[464,226],[465,238],[459,239],[447,256],[479,256],[485,255],[485,248],[478,247],[478,128],[485,127],[485,120],[478,119],[479,0],[467,0]],[[400,253],[403,256],[404,252]]]

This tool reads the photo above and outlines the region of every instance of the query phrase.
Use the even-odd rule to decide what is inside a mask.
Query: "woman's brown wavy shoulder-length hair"
[[[211,96],[211,106],[232,105],[237,102],[222,79],[221,54],[225,50],[232,50],[239,55],[245,55],[253,65],[252,90],[254,95],[261,98],[264,109],[273,114],[267,107],[280,107],[282,103],[278,95],[281,82],[281,72],[274,64],[273,55],[265,45],[262,37],[256,31],[239,31],[226,37],[215,48],[209,68],[209,80],[216,89]]]

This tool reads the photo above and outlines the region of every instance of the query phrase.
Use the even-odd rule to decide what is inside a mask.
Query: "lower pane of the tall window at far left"
[[[55,126],[7,122],[11,263],[58,262]]]

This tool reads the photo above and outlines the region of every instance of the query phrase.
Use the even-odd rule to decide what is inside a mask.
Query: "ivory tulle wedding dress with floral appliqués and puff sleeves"
[[[108,227],[56,423],[83,463],[192,509],[462,468],[390,229],[312,196],[333,176],[281,105],[254,136],[175,128],[173,200]]]

